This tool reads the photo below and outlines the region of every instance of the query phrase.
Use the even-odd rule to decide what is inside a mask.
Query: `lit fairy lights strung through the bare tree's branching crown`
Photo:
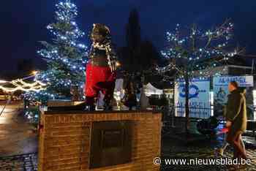
[[[162,50],[161,54],[164,58],[170,59],[170,64],[157,68],[162,75],[165,75],[165,72],[171,69],[176,69],[179,75],[184,75],[187,72],[189,77],[193,77],[192,75],[194,74],[209,75],[210,72],[205,70],[218,66],[219,61],[227,61],[239,54],[238,50],[230,52],[225,50],[225,47],[227,47],[230,39],[233,37],[233,23],[225,22],[222,26],[207,31],[192,28],[186,36],[181,34],[183,32],[183,30],[181,31],[180,24],[177,24],[174,31],[167,31],[166,33],[167,42],[170,43],[170,47]],[[192,47],[194,37],[197,45]],[[222,60],[214,61],[213,58],[216,57]],[[173,64],[173,61],[179,59],[182,60],[181,63],[184,65]],[[211,62],[204,62],[207,60]]]

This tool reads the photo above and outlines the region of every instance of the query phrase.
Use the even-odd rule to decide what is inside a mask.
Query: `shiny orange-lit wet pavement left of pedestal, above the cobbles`
[[[4,102],[0,102],[0,111]],[[19,115],[19,102],[9,104],[0,115],[0,156],[37,152],[37,134]]]

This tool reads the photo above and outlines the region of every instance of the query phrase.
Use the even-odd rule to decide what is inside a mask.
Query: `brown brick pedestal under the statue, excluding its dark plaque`
[[[159,170],[160,113],[151,111],[42,112],[39,130],[39,171],[90,170],[91,127],[99,121],[132,121],[132,159],[127,164],[98,170]]]

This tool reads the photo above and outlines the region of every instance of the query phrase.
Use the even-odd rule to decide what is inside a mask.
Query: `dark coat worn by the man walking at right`
[[[227,121],[232,122],[229,134],[246,131],[246,99],[238,90],[232,91],[227,100]]]

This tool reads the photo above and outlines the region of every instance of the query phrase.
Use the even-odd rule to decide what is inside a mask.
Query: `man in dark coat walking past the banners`
[[[241,134],[246,131],[246,99],[244,94],[238,90],[238,83],[231,81],[228,85],[230,94],[227,99],[227,115],[226,127],[229,129],[227,133],[227,142],[233,146],[233,158],[246,159],[246,151],[241,145]]]

